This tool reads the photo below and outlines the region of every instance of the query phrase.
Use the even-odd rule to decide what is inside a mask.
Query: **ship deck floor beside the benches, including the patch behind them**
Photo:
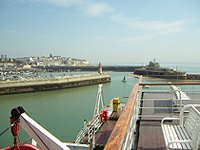
[[[183,105],[199,103],[199,93],[187,94],[191,100],[183,100]],[[171,93],[144,92],[139,125],[138,150],[166,149],[161,129],[161,120],[168,116],[178,116],[179,111],[172,101]]]

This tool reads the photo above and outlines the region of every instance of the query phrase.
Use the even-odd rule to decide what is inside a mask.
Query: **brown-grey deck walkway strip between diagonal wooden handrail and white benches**
[[[172,101],[168,100],[171,97],[172,94],[167,94],[167,93],[145,93],[143,97],[144,99],[143,107],[171,107]],[[154,99],[156,101],[147,99]],[[159,115],[166,116],[170,114],[171,111],[172,111],[171,109],[143,109],[142,115],[152,115],[155,117]],[[142,118],[139,128],[139,140],[138,140],[139,150],[165,149],[164,137],[160,126],[161,118],[162,117],[159,117],[159,119],[155,119],[154,117]]]

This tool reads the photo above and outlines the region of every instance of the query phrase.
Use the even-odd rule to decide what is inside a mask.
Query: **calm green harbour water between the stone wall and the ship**
[[[111,72],[112,81],[103,85],[103,96],[108,104],[114,97],[129,96],[137,79],[128,73]],[[0,131],[9,126],[10,110],[23,106],[26,112],[61,141],[71,142],[83,126],[84,119],[91,119],[96,102],[98,85],[48,92],[35,92],[0,96]],[[28,136],[20,130],[20,141]],[[0,148],[12,145],[10,130],[0,137]]]

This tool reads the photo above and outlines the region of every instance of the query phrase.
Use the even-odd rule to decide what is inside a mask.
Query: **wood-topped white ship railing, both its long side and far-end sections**
[[[142,106],[143,105],[143,101],[145,101],[144,99],[144,92],[151,92],[151,90],[143,90],[142,87],[144,86],[170,86],[170,85],[200,85],[200,82],[195,82],[195,83],[191,83],[191,82],[186,82],[186,83],[171,83],[171,82],[166,82],[166,83],[140,83],[136,84],[129,96],[129,99],[126,103],[126,106],[124,107],[124,111],[122,112],[122,114],[120,115],[109,139],[107,144],[105,145],[105,150],[110,150],[110,149],[135,149],[137,145],[135,143],[135,137],[137,137],[137,130],[138,130],[138,126],[139,126],[139,121],[141,119],[144,119],[145,114],[143,114],[144,109],[149,109],[152,108],[155,110],[155,106],[154,105],[150,105],[150,106]],[[153,92],[163,92],[163,93],[169,93],[169,95],[171,94],[171,98],[167,99],[171,102],[173,102],[175,100],[174,98],[174,94],[172,91],[170,91],[170,89],[168,88],[168,91],[162,90],[162,88],[159,88],[158,91],[153,91]],[[155,94],[154,93],[154,94]],[[156,99],[152,99],[151,101],[160,101],[161,99],[159,98],[158,100]],[[177,102],[182,101],[183,103],[186,102],[186,100],[182,100],[182,99],[176,99]],[[200,100],[195,99],[195,100],[187,100],[189,103],[199,103]],[[158,106],[161,109],[166,109],[165,106]],[[169,106],[169,108],[173,108],[174,110],[176,110],[178,108],[181,108],[182,106],[178,106],[178,105],[174,105],[173,103],[171,103],[171,106]],[[157,108],[157,107],[156,107]],[[167,108],[168,109],[168,108]],[[137,111],[136,111],[137,110]],[[162,113],[161,113],[162,114]],[[151,119],[154,119],[155,116],[154,114],[147,114],[147,117],[150,117]],[[162,114],[163,115],[163,114]],[[169,115],[169,114],[167,114]],[[171,112],[170,115],[176,115],[176,112]],[[143,117],[143,118],[142,118]],[[163,116],[165,117],[165,116]],[[136,131],[136,132],[135,132]],[[116,136],[117,135],[117,136]]]

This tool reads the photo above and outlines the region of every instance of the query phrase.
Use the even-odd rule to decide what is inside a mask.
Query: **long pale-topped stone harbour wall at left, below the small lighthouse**
[[[56,90],[99,84],[110,81],[111,77],[109,73],[85,74],[63,77],[59,76],[52,78],[32,79],[26,81],[3,81],[0,82],[0,95]]]

